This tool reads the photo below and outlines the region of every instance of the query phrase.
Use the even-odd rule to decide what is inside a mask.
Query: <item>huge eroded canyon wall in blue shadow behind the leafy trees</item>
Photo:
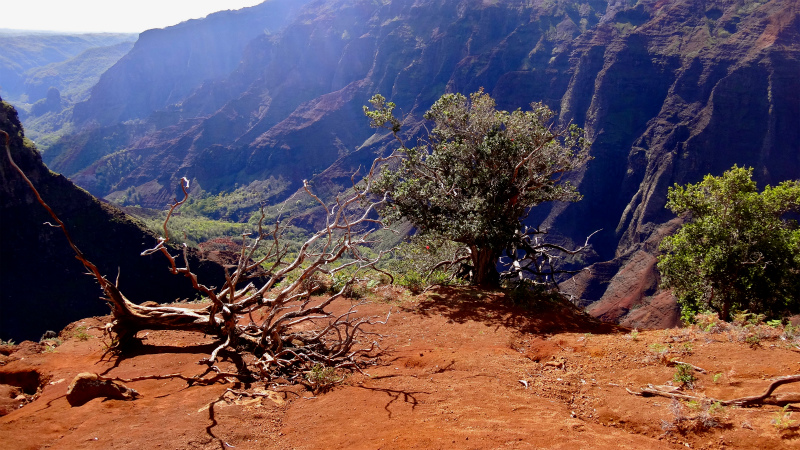
[[[397,103],[409,137],[445,92],[483,87],[505,109],[541,100],[587,130],[595,159],[573,179],[583,201],[531,220],[578,242],[601,229],[603,263],[573,292],[609,320],[665,325],[674,310],[648,308],[665,298],[651,301],[652,258],[676,226],[667,188],[733,164],[754,166],[762,185],[800,176],[799,15],[794,0],[318,0],[249,41],[230,76],[162,95],[138,122],[88,129],[46,157],[115,201],[136,193],[161,207],[181,176],[206,193],[279,201],[303,179],[335,193],[392,145],[361,112],[376,92]],[[139,70],[126,64],[115,73]],[[92,97],[110,106],[97,117],[139,101],[103,89],[113,87]],[[669,317],[642,319],[659,314]]]

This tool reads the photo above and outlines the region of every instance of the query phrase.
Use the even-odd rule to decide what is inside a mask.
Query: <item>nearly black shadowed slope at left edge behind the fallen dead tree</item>
[[[141,257],[156,236],[119,209],[98,201],[61,175],[50,172],[24,137],[13,107],[0,100],[0,130],[11,136],[17,165],[67,224],[73,240],[136,302],[195,296],[188,280],[171,275],[163,257]],[[19,174],[0,155],[0,339],[38,340],[82,317],[107,314],[97,283],[84,275],[64,235]],[[179,250],[174,249],[177,253]],[[157,256],[157,255],[154,255]],[[224,280],[217,264],[190,254],[190,264],[211,284]]]

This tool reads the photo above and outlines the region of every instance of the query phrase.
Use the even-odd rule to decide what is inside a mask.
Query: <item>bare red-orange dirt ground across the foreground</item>
[[[0,410],[11,411],[0,417],[0,449],[800,449],[796,429],[772,423],[781,408],[712,411],[716,426],[702,427],[694,419],[702,406],[626,390],[671,382],[675,368],[651,347],[659,344],[667,357],[706,369],[690,394],[760,394],[770,378],[800,372],[800,353],[779,337],[750,347],[732,333],[636,334],[568,306],[521,309],[501,293],[468,288],[361,311],[390,309],[380,364],[318,396],[299,387],[144,380],[126,383],[141,394],[135,401],[70,407],[67,386],[80,372],[192,376],[213,341],[140,333],[141,346],[104,358],[101,333],[90,329],[87,338],[78,328],[108,320],[93,318],[62,331],[55,351],[33,343],[0,348]],[[10,386],[25,380],[43,389],[27,395],[30,386],[27,394]],[[225,394],[228,388],[269,397]]]

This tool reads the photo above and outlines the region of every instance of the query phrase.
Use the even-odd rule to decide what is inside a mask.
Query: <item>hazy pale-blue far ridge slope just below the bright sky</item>
[[[268,0],[141,33],[133,50],[103,74],[91,98],[76,106],[75,121],[123,122],[180,102],[203,81],[230,74],[250,40],[281,29],[307,1]]]

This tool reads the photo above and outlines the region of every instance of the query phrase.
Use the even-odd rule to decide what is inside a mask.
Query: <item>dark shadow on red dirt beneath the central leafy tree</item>
[[[495,328],[522,333],[626,333],[619,325],[603,323],[566,300],[538,299],[514,305],[503,291],[475,287],[438,287],[409,312],[422,316],[442,315],[456,323],[475,321]]]

